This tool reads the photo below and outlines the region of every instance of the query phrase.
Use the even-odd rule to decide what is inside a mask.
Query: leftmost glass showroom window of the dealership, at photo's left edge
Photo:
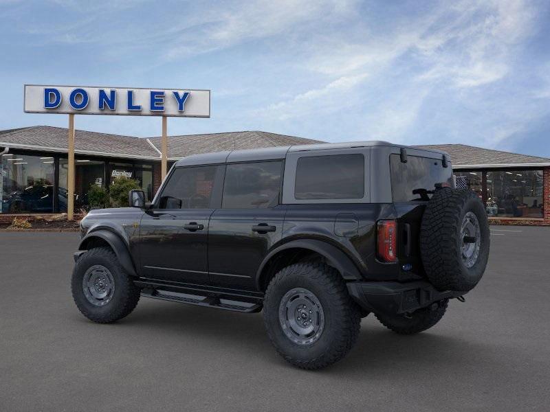
[[[54,211],[54,158],[2,155],[2,213]]]

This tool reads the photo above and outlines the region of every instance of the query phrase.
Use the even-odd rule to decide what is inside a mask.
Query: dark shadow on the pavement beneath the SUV
[[[148,330],[175,340],[192,339],[198,345],[223,342],[223,347],[229,351],[239,351],[243,345],[254,347],[254,354],[265,363],[293,368],[275,355],[261,313],[241,314],[142,299],[137,309],[116,325]],[[322,373],[376,375],[390,368],[412,372],[421,370],[423,365],[452,369],[463,368],[474,361],[491,362],[491,345],[472,343],[447,333],[448,328],[436,325],[420,334],[402,336],[369,317],[362,322],[358,342],[350,354]]]

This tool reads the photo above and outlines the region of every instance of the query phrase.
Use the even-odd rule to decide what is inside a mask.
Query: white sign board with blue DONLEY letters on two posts
[[[25,113],[210,117],[210,90],[25,84]]]

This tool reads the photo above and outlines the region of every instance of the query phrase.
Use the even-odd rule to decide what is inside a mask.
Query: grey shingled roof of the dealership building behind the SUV
[[[159,159],[160,157],[161,137],[143,139],[140,137],[89,132],[87,130],[76,130],[75,133],[75,151],[80,155],[105,155],[151,160]],[[316,143],[323,142],[259,130],[168,136],[168,158],[180,159],[181,157],[190,155],[225,150]],[[0,145],[31,150],[67,152],[67,129],[52,126],[32,126],[0,130]],[[464,144],[438,144],[416,147],[447,152],[451,156],[453,166],[461,168],[479,168],[481,165],[495,165],[498,167],[550,165],[550,159],[544,157],[520,155],[518,153],[478,148]]]

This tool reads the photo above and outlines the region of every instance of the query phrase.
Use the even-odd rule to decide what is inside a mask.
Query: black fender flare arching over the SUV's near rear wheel
[[[285,244],[282,244],[279,247],[276,247],[270,253],[267,253],[264,260],[262,261],[258,271],[256,272],[256,288],[261,289],[260,279],[263,272],[263,269],[270,260],[277,255],[278,253],[285,251],[287,249],[309,249],[319,253],[327,259],[329,264],[336,268],[338,272],[342,275],[342,279],[345,280],[362,280],[363,277],[351,258],[338,249],[336,246],[333,246],[330,243],[323,242],[322,240],[316,239],[299,239],[292,240]]]

